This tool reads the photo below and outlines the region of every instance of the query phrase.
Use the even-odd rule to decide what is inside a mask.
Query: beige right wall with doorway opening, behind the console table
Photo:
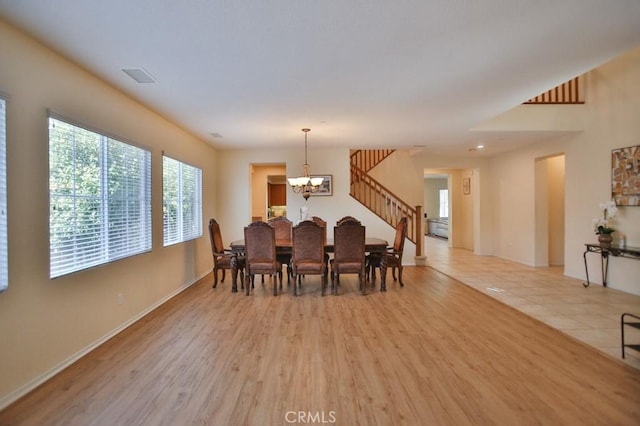
[[[640,143],[640,49],[586,75],[584,131],[541,141],[491,159],[495,190],[494,254],[535,263],[535,161],[565,153],[565,274],[584,279],[584,244],[595,242],[592,219],[611,199],[611,150]],[[531,109],[529,109],[531,111]],[[640,208],[620,209],[616,228],[640,246]],[[590,255],[590,278],[599,283],[599,257]],[[640,294],[636,261],[612,258],[609,286]]]

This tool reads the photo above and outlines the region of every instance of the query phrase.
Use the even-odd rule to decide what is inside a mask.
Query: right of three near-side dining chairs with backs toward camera
[[[333,228],[333,259],[331,259],[331,289],[338,293],[340,274],[358,274],[360,291],[365,286],[365,227],[347,220]]]

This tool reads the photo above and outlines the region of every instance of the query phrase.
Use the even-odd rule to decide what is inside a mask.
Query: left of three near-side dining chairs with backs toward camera
[[[282,264],[276,258],[276,232],[266,222],[252,222],[244,228],[246,275],[251,284],[245,286],[246,295],[253,287],[254,276],[270,275],[273,281],[273,295],[278,295],[278,279],[282,286]]]

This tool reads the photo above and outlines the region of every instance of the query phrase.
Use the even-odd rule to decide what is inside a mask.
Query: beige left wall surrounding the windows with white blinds
[[[208,273],[206,234],[162,247],[162,151],[203,170],[216,213],[216,152],[0,21],[7,103],[9,289],[0,294],[0,407]],[[117,66],[117,65],[114,65]],[[168,90],[159,86],[150,90]],[[49,279],[47,108],[152,152],[153,250]],[[117,303],[122,294],[124,303]]]

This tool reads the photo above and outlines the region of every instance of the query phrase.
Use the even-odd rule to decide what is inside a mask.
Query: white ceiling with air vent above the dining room
[[[0,16],[225,149],[300,147],[310,127],[310,147],[466,153],[470,128],[640,46],[639,0],[0,0]],[[122,71],[138,67],[157,82]]]

